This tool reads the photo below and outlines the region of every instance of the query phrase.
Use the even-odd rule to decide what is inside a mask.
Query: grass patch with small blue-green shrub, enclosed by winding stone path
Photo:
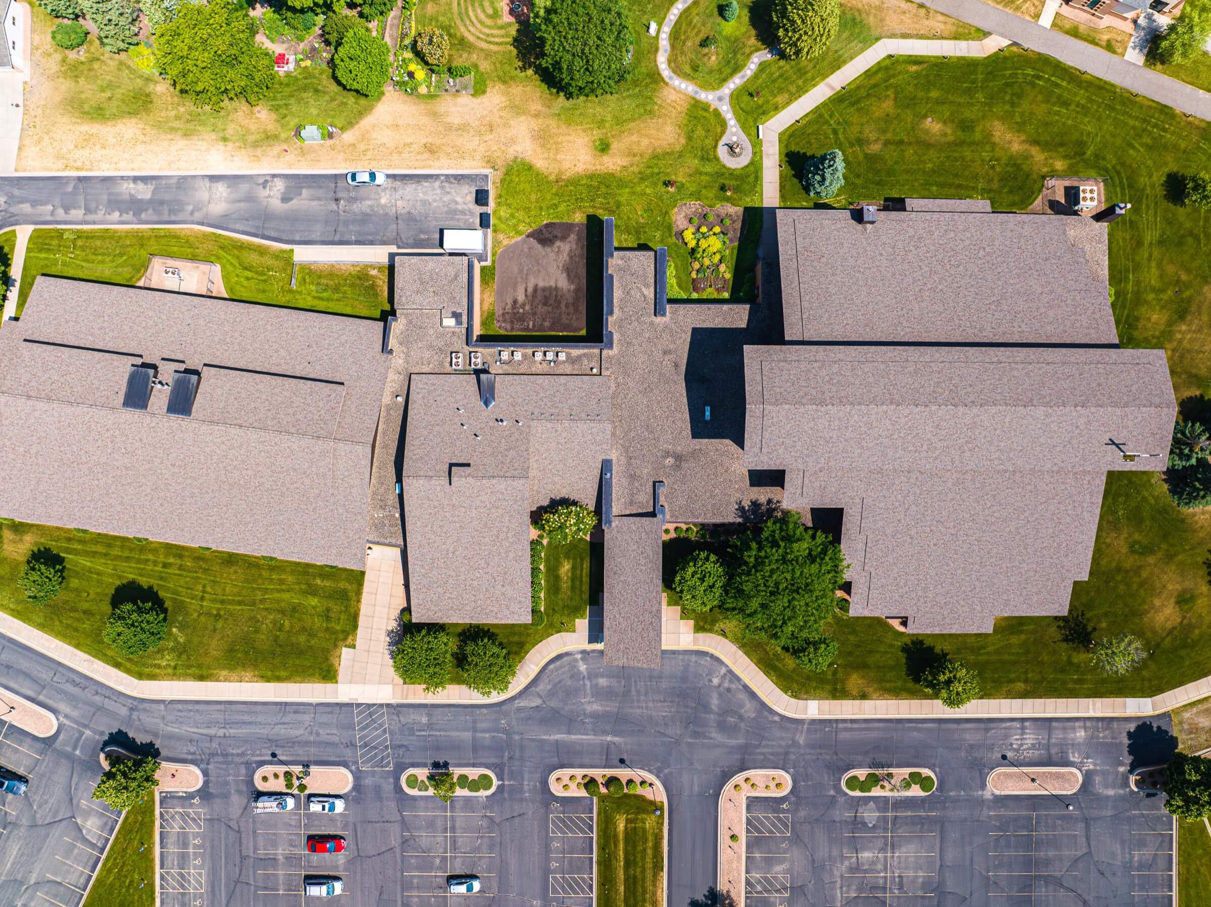
[[[723,4],[714,0],[694,0],[687,6],[668,35],[670,69],[698,87],[712,91],[722,88],[744,69],[757,51],[776,42],[770,34],[770,0],[737,2],[740,15],[734,22],[723,21],[719,16]],[[765,40],[759,40],[758,34],[764,35]],[[714,35],[718,40],[714,50],[699,46],[707,35]]]

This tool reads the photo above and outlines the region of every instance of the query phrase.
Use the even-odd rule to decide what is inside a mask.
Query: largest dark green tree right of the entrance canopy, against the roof
[[[820,636],[849,568],[837,543],[788,510],[734,539],[730,557],[728,609],[748,630],[787,651]]]

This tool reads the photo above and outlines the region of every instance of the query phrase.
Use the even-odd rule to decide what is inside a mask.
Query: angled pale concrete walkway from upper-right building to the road
[[[1006,44],[1009,42],[995,35],[989,35],[982,41],[925,41],[908,38],[884,38],[876,41],[815,88],[763,124],[762,205],[767,209],[777,207],[779,170],[782,163],[779,136],[782,130],[797,122],[809,110],[831,98],[884,57],[900,53],[914,57],[987,57]]]

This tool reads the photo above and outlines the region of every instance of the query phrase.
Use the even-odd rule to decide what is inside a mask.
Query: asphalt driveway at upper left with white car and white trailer
[[[443,228],[478,228],[488,173],[395,173],[351,186],[342,173],[0,178],[0,229],[210,226],[289,246],[437,248]]]

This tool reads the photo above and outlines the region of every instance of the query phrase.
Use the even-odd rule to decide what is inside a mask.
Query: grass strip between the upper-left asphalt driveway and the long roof
[[[207,230],[34,230],[25,249],[17,312],[39,274],[137,283],[148,256],[216,262],[233,299],[377,318],[388,308],[386,265],[299,265],[294,253]]]

